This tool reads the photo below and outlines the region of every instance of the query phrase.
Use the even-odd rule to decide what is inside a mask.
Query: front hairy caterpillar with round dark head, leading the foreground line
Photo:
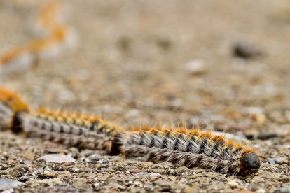
[[[120,141],[126,157],[142,156],[152,162],[167,161],[241,176],[256,173],[261,166],[254,149],[198,129],[137,128]]]

